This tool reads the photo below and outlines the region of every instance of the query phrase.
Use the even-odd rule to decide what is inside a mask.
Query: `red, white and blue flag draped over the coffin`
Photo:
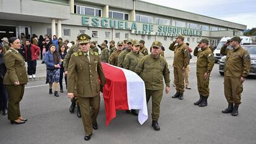
[[[106,125],[116,117],[116,110],[139,109],[142,125],[148,119],[145,83],[139,75],[127,69],[101,62],[106,78],[103,88]]]

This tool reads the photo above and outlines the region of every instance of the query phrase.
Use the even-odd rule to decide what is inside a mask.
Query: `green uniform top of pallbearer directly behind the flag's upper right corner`
[[[135,68],[137,67],[137,64],[139,63],[140,59],[142,59],[144,55],[138,51],[135,53],[134,51],[131,51],[126,55],[126,58],[124,59],[124,62],[122,63],[124,69],[129,69],[134,72]]]

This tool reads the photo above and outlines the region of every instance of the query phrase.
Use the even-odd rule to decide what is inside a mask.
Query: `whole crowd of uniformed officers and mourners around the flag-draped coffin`
[[[51,37],[53,37],[51,39]],[[20,114],[19,103],[22,100],[25,84],[28,78],[35,78],[36,59],[40,58],[46,64],[46,83],[49,83],[49,94],[59,97],[58,90],[63,93],[62,79],[64,77],[67,95],[71,100],[69,111],[72,113],[77,105],[77,116],[82,117],[85,129],[85,140],[90,140],[92,130],[98,129],[96,118],[100,110],[100,90],[106,83],[101,62],[113,66],[132,70],[140,75],[145,82],[147,103],[152,101],[152,127],[160,130],[158,119],[160,117],[160,103],[165,92],[169,93],[169,69],[164,58],[164,48],[160,41],[154,41],[150,47],[150,53],[145,48],[144,40],[124,41],[114,40],[90,41],[91,37],[85,33],[79,33],[76,42],[57,38],[56,35],[36,35],[32,38],[3,38],[0,44],[0,90],[2,114],[8,114],[12,124],[24,124],[25,119]],[[250,56],[240,46],[241,38],[234,36],[223,48],[221,53],[232,56],[239,53],[241,57],[234,60],[227,60],[224,77],[225,96],[228,101],[228,108],[223,113],[238,114],[238,106],[241,104],[242,83],[250,70]],[[233,49],[226,49],[228,45]],[[97,47],[98,46],[98,47]],[[101,49],[101,53],[98,51]],[[170,44],[169,49],[174,51],[174,85],[176,93],[172,98],[184,99],[184,88],[189,86],[189,62],[192,49],[189,43],[184,43],[184,36],[178,35],[175,41]],[[194,49],[194,56],[197,56],[197,89],[199,100],[194,104],[200,107],[207,106],[210,95],[209,81],[211,70],[214,66],[213,51],[209,41],[203,38]],[[233,57],[235,59],[235,57]],[[25,67],[27,61],[27,70]],[[227,70],[228,69],[228,70]],[[232,70],[234,69],[234,70]],[[28,77],[27,77],[28,75]],[[235,77],[235,78],[234,78]],[[99,82],[100,79],[100,82]],[[234,82],[233,82],[234,81]],[[234,85],[231,86],[231,85]],[[127,110],[138,116],[138,109]]]

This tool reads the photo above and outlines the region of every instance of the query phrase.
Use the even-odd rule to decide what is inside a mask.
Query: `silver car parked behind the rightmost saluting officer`
[[[253,75],[256,78],[256,44],[243,45],[243,48],[247,49],[250,54],[250,73],[249,75]],[[226,64],[226,56],[221,57],[219,72],[221,75],[224,75],[224,69]]]

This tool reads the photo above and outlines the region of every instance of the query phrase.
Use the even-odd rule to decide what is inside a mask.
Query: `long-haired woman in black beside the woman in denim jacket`
[[[63,73],[64,73],[64,67],[63,67],[63,62],[64,58],[67,55],[67,46],[66,44],[62,43],[59,45],[59,56],[61,56],[61,70],[60,70],[60,75],[59,75],[59,87],[61,88],[61,93],[63,93],[63,85],[62,85],[62,79],[63,79]],[[67,75],[65,75],[65,83],[66,83],[66,88],[67,88]]]

